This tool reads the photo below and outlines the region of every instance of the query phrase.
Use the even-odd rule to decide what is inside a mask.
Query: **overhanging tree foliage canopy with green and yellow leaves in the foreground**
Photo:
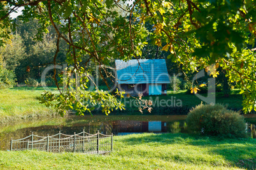
[[[127,3],[116,0],[8,0],[2,1],[0,20],[3,29],[11,23],[11,12],[24,7],[22,20],[38,19],[37,38],[42,39],[52,25],[56,34],[56,64],[59,41],[68,43],[67,62],[73,66],[70,73],[83,76],[77,90],[68,88],[60,94],[46,93],[43,101],[60,112],[68,109],[93,110],[82,99],[101,104],[105,113],[123,108],[117,94],[86,91],[91,72],[89,63],[99,66],[99,74],[114,78],[106,68],[113,59],[129,60],[142,55],[148,38],[167,58],[190,71],[206,69],[213,77],[217,67],[225,69],[230,81],[241,87],[245,111],[256,108],[255,94],[255,36],[256,6],[253,0],[215,1],[151,1]],[[150,25],[151,29],[148,29]],[[6,32],[0,32],[1,36]],[[1,43],[1,41],[0,41]],[[211,66],[215,64],[214,66]],[[64,79],[67,85],[73,81]],[[108,84],[107,84],[108,85]],[[50,101],[57,101],[57,104]]]

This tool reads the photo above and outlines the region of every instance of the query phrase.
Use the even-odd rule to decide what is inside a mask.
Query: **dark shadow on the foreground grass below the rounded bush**
[[[181,144],[202,147],[210,155],[221,155],[233,166],[256,168],[256,139],[209,138],[190,134],[141,134],[136,137],[120,139],[125,145],[143,145],[159,143],[159,145]]]

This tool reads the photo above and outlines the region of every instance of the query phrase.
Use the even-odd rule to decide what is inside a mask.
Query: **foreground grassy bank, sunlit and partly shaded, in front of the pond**
[[[255,139],[132,134],[115,136],[109,155],[0,151],[0,169],[253,169],[255,145]]]

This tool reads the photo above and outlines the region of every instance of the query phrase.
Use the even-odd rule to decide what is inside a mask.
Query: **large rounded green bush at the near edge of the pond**
[[[246,137],[246,124],[238,111],[221,104],[199,104],[188,113],[187,129],[206,136]]]

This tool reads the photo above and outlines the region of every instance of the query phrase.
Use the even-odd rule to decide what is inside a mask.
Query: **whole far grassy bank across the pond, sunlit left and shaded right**
[[[55,90],[56,88],[51,88]],[[39,103],[40,94],[44,91],[42,87],[15,87],[11,89],[0,90],[0,124],[4,122],[12,122],[21,119],[35,119],[54,117],[56,113]],[[206,94],[204,94],[205,96]],[[144,111],[144,115],[187,115],[190,108],[195,107],[202,101],[194,94],[188,94],[185,90],[177,92],[168,91],[167,96],[147,96],[143,99],[152,99],[152,113]],[[133,100],[133,101],[132,101]],[[181,101],[182,107],[175,107],[174,101]],[[158,106],[160,101],[170,101],[173,103],[171,107]],[[111,115],[141,115],[136,107],[134,99],[125,98],[124,111],[113,111]],[[216,94],[216,102],[227,104],[229,109],[242,109],[242,96],[239,90],[232,90],[229,98],[224,97],[221,92]],[[170,104],[170,103],[169,103]],[[88,113],[89,114],[89,113]],[[103,115],[101,110],[93,111],[95,115]]]

